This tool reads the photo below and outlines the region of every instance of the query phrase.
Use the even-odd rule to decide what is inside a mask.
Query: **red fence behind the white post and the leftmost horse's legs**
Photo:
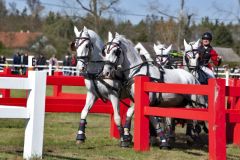
[[[0,73],[1,77],[26,77],[13,75],[10,68],[5,68],[4,72]],[[64,93],[62,86],[85,86],[84,78],[80,76],[63,76],[62,72],[55,72],[54,76],[47,77],[47,85],[53,86],[53,96],[46,96],[46,112],[81,112],[85,101],[86,94]],[[12,98],[11,90],[0,89],[2,98],[1,105],[26,106],[26,98]],[[130,104],[129,99],[124,100]],[[127,107],[120,104],[120,115],[122,120],[125,120]],[[114,123],[113,108],[110,102],[104,103],[100,99],[97,100],[91,108],[90,113],[110,114],[110,136],[119,138],[119,131]]]

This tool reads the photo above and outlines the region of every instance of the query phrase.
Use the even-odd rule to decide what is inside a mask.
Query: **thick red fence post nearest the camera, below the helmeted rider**
[[[226,160],[225,80],[210,79],[208,84],[209,159]]]

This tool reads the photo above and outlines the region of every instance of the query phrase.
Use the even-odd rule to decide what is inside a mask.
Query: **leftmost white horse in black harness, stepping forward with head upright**
[[[71,47],[72,50],[77,52],[77,68],[83,73],[87,88],[86,103],[81,112],[81,120],[76,137],[77,143],[84,142],[86,139],[86,118],[89,110],[98,98],[111,101],[114,111],[114,121],[118,126],[120,135],[123,135],[123,127],[119,114],[119,88],[122,88],[121,82],[120,80],[99,78],[104,65],[101,57],[103,41],[94,31],[86,27],[81,31],[78,31],[77,27],[74,27],[74,32],[76,37]],[[124,90],[121,91],[124,92]],[[121,98],[124,98],[124,95],[126,93],[122,93]]]

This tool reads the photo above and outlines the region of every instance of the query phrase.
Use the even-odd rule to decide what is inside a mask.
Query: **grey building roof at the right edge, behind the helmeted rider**
[[[224,62],[240,62],[240,57],[232,48],[213,47],[216,52],[223,57]]]

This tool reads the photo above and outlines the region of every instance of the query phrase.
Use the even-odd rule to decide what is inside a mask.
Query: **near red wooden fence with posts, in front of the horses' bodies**
[[[148,92],[207,95],[208,109],[186,109],[174,106],[170,108],[150,107]],[[136,77],[134,149],[138,151],[149,150],[148,116],[150,115],[205,120],[208,121],[209,125],[209,159],[226,159],[226,138],[222,137],[226,137],[226,116],[233,119],[233,112],[227,112],[225,109],[225,95],[240,96],[239,88],[228,87],[226,89],[223,79],[210,79],[208,85],[186,85],[153,83],[149,82],[148,77]],[[237,112],[237,110],[235,111]],[[236,115],[238,115],[238,118],[234,122],[240,120],[240,114],[236,113]],[[221,140],[219,140],[219,137],[221,137]]]

